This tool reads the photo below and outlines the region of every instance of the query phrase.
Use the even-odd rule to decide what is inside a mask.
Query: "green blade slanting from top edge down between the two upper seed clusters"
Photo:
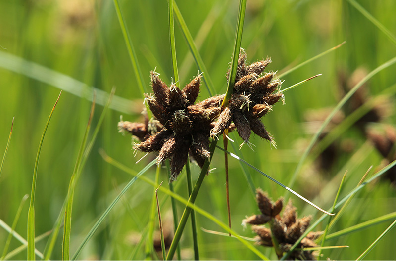
[[[184,21],[182,13],[180,12],[179,8],[177,7],[176,2],[173,2],[173,9],[175,11],[176,19],[179,22],[180,28],[182,29],[183,36],[186,39],[186,42],[190,48],[191,54],[193,54],[193,57],[197,63],[198,69],[201,73],[204,73],[203,74],[203,82],[205,82],[205,85],[207,87],[209,95],[213,96],[216,93],[214,90],[213,83],[209,77],[209,73],[206,69],[206,66],[203,63],[202,57],[199,54],[198,49],[194,43],[193,37],[191,36],[191,33],[190,33],[190,30],[188,29],[186,22]]]

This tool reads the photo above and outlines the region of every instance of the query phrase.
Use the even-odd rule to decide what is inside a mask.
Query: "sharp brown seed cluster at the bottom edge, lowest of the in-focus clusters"
[[[258,235],[255,237],[258,245],[272,247],[273,240],[276,240],[283,253],[290,251],[293,244],[308,228],[311,217],[298,219],[296,208],[290,201],[284,208],[282,216],[280,216],[283,199],[272,202],[267,193],[264,193],[261,189],[257,189],[256,200],[261,214],[247,217],[242,221],[242,224],[252,225],[251,229]],[[270,228],[262,225],[264,223],[269,224]],[[309,232],[301,240],[297,249],[318,247],[314,240],[319,238],[321,234],[323,234],[321,231]],[[315,252],[295,250],[289,256],[289,260],[315,260]]]

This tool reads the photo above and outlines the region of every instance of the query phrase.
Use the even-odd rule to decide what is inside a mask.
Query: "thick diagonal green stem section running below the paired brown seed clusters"
[[[193,192],[190,195],[188,203],[194,203],[195,199],[197,198],[199,188],[201,187],[203,179],[205,178],[206,173],[209,169],[209,164],[210,164],[210,161],[212,160],[216,145],[217,145],[217,140],[213,140],[212,144],[210,145],[210,149],[209,149],[210,150],[210,158],[206,159],[205,163],[203,164],[201,173],[199,174],[198,180],[194,186]],[[191,207],[188,207],[188,206],[186,206],[186,208],[184,209],[182,218],[180,219],[179,225],[176,229],[175,236],[173,237],[172,244],[170,245],[170,248],[168,251],[168,256],[166,257],[166,260],[168,260],[168,261],[173,259],[173,255],[175,254],[177,244],[179,243],[179,240],[182,236],[184,227],[186,226],[186,223],[187,223],[187,220],[189,218],[191,211],[192,211]]]

